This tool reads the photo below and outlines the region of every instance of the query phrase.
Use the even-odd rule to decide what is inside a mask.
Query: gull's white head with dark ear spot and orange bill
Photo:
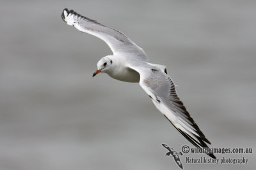
[[[111,70],[113,64],[113,60],[111,59],[111,55],[106,57],[102,57],[97,63],[97,70],[93,73],[93,77],[99,73],[108,73]]]

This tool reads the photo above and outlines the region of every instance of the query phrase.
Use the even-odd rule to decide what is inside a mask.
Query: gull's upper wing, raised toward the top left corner
[[[73,10],[65,8],[61,18],[68,24],[73,25],[79,31],[92,34],[105,41],[111,48],[114,55],[116,53],[136,53],[136,57],[147,60],[148,57],[140,46],[131,41],[125,34],[116,29],[106,27],[95,20],[83,17]],[[131,55],[132,56],[132,55]]]

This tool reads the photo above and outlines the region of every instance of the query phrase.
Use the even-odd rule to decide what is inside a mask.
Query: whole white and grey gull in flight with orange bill
[[[148,57],[143,49],[116,29],[106,27],[67,8],[63,10],[61,18],[79,31],[102,39],[111,48],[113,55],[99,60],[93,76],[107,73],[116,80],[140,82],[140,86],[152,99],[156,108],[193,145],[208,147],[206,143],[211,144],[177,96],[166,66],[147,62]],[[212,153],[207,155],[216,158]]]

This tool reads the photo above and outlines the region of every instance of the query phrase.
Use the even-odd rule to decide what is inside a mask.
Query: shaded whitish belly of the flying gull
[[[111,78],[115,78],[116,80],[138,83],[140,81],[140,74],[134,69],[124,68],[120,70],[116,70],[113,73],[108,73]]]

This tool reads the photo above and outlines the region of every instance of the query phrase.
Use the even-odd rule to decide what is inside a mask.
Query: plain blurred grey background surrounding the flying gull
[[[61,20],[73,9],[164,64],[212,147],[253,148],[256,1],[1,1],[0,169],[179,169],[191,145],[138,83],[92,78],[108,46]],[[254,169],[186,164],[184,169]]]

